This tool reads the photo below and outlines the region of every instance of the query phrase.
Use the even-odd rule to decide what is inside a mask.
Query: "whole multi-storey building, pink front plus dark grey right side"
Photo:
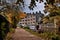
[[[27,16],[24,19],[21,19],[19,22],[20,25],[36,25],[41,20],[41,13],[27,13]]]

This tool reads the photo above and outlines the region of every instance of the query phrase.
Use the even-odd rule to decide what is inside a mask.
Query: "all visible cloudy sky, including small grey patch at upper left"
[[[15,3],[17,0],[6,0],[7,1],[7,3],[10,3],[10,4],[12,4],[12,3]],[[23,12],[26,12],[26,13],[32,13],[32,12],[39,12],[39,11],[41,11],[41,13],[43,13],[44,14],[44,12],[43,12],[43,10],[44,10],[44,2],[46,2],[45,0],[44,0],[44,2],[42,2],[42,3],[39,3],[39,2],[36,2],[36,5],[37,5],[37,7],[34,7],[33,8],[33,10],[30,10],[29,8],[28,8],[28,6],[29,6],[29,4],[30,4],[30,2],[31,2],[31,0],[24,0],[24,5],[25,5],[25,7],[22,7],[22,11]],[[48,13],[46,13],[45,15],[48,15]]]

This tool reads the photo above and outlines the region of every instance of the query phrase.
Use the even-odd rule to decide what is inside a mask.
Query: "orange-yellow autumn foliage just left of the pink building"
[[[19,19],[26,17],[26,14],[24,14],[24,12],[22,12],[22,11],[19,11],[19,12],[17,13],[17,15],[15,15],[14,12],[11,11],[11,12],[7,12],[7,13],[5,14],[5,16],[6,16],[7,20],[8,20],[10,23],[13,24],[13,21],[14,21],[14,20],[12,19],[13,17],[15,17],[17,21],[19,21]]]

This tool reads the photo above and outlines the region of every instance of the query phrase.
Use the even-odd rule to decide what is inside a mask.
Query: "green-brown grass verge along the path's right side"
[[[56,37],[58,37],[58,35],[54,32],[37,33],[30,29],[25,29],[25,30],[45,40],[49,40],[49,39],[52,40],[52,38],[56,40]]]

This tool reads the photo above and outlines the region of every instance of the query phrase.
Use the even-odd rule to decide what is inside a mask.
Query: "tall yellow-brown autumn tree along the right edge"
[[[58,27],[58,30],[60,29],[60,0],[46,0],[45,3],[45,10],[47,12],[50,12],[49,19],[54,22],[55,27]],[[58,24],[58,26],[57,26]],[[59,32],[59,31],[58,31]]]

